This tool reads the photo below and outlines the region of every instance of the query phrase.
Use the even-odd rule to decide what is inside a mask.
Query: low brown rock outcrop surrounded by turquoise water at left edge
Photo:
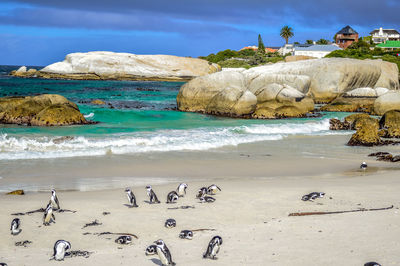
[[[0,98],[0,123],[32,126],[89,124],[78,106],[57,94]]]

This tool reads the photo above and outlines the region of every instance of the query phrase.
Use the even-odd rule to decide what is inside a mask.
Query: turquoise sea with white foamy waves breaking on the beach
[[[9,69],[8,69],[9,70]],[[1,68],[0,68],[1,72]],[[21,79],[0,74],[0,96],[61,94],[99,124],[69,127],[0,125],[0,160],[101,156],[107,153],[207,150],[289,135],[325,135],[322,118],[246,120],[176,110],[181,82]],[[101,99],[105,106],[90,104]],[[60,136],[74,139],[54,143]]]

